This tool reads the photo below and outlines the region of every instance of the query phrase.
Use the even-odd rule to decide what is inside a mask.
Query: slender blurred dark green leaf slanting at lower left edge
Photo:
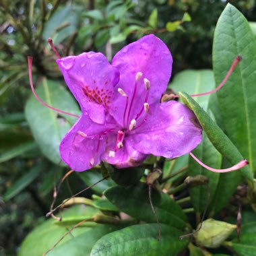
[[[42,166],[43,166],[43,164],[42,164],[42,162],[40,162],[36,166],[32,167],[28,172],[23,174],[20,179],[15,181],[15,183],[13,183],[11,185],[11,187],[9,187],[9,189],[7,189],[7,191],[3,195],[3,200],[7,201],[7,200],[15,197],[15,195],[18,195],[18,193],[20,193],[20,191],[22,191],[28,185],[30,185],[30,183],[32,183],[32,181],[34,181],[34,179],[36,179],[36,177],[38,177],[38,175],[40,174],[40,172],[42,170]]]

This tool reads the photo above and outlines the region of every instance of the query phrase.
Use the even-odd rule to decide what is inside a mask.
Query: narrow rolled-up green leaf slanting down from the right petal
[[[222,156],[224,156],[224,158],[226,158],[232,165],[243,160],[243,156],[236,146],[234,146],[222,129],[212,121],[201,106],[186,93],[179,92],[179,94],[185,105],[187,105],[197,116],[199,123],[203,127],[203,131],[205,131],[205,134],[207,134],[207,137],[210,139],[216,150],[218,150],[218,152],[220,152],[220,154],[222,154]],[[253,183],[253,174],[248,166],[241,168],[239,171],[248,181]]]

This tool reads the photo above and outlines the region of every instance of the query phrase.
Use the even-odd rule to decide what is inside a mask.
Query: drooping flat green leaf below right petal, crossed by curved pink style
[[[195,156],[197,156],[197,158],[199,158],[204,164],[207,164],[212,168],[220,168],[221,166],[221,155],[214,148],[205,133],[203,133],[203,139],[200,145],[197,146],[195,150],[193,150],[193,154],[195,154]],[[211,172],[210,170],[206,170],[200,164],[195,162],[193,158],[189,159],[189,170],[187,174],[191,177],[201,174],[207,177],[209,181],[210,199],[208,198],[207,187],[205,185],[189,189],[191,202],[193,204],[195,212],[199,212],[201,214],[205,210],[207,203],[209,203],[209,201],[212,201],[214,197],[216,188],[218,186],[220,174],[216,172]]]

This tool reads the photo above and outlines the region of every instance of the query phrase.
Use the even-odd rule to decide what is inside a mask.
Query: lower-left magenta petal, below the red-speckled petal
[[[83,114],[61,141],[59,151],[63,162],[78,172],[99,164],[106,148],[104,131],[109,129]]]

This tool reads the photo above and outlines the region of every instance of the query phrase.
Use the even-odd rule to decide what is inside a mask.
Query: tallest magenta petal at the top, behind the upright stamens
[[[172,71],[172,55],[166,44],[159,38],[150,34],[132,42],[119,51],[112,62],[120,72],[119,84],[117,84],[115,102],[111,104],[110,113],[119,122],[122,119],[125,99],[121,98],[117,88],[129,96],[131,100],[135,86],[135,75],[142,72],[143,75],[138,82],[135,100],[131,109],[131,118],[135,118],[137,112],[143,106],[146,98],[146,89],[143,79],[150,81],[150,94],[148,103],[160,102],[160,98],[166,90]]]

